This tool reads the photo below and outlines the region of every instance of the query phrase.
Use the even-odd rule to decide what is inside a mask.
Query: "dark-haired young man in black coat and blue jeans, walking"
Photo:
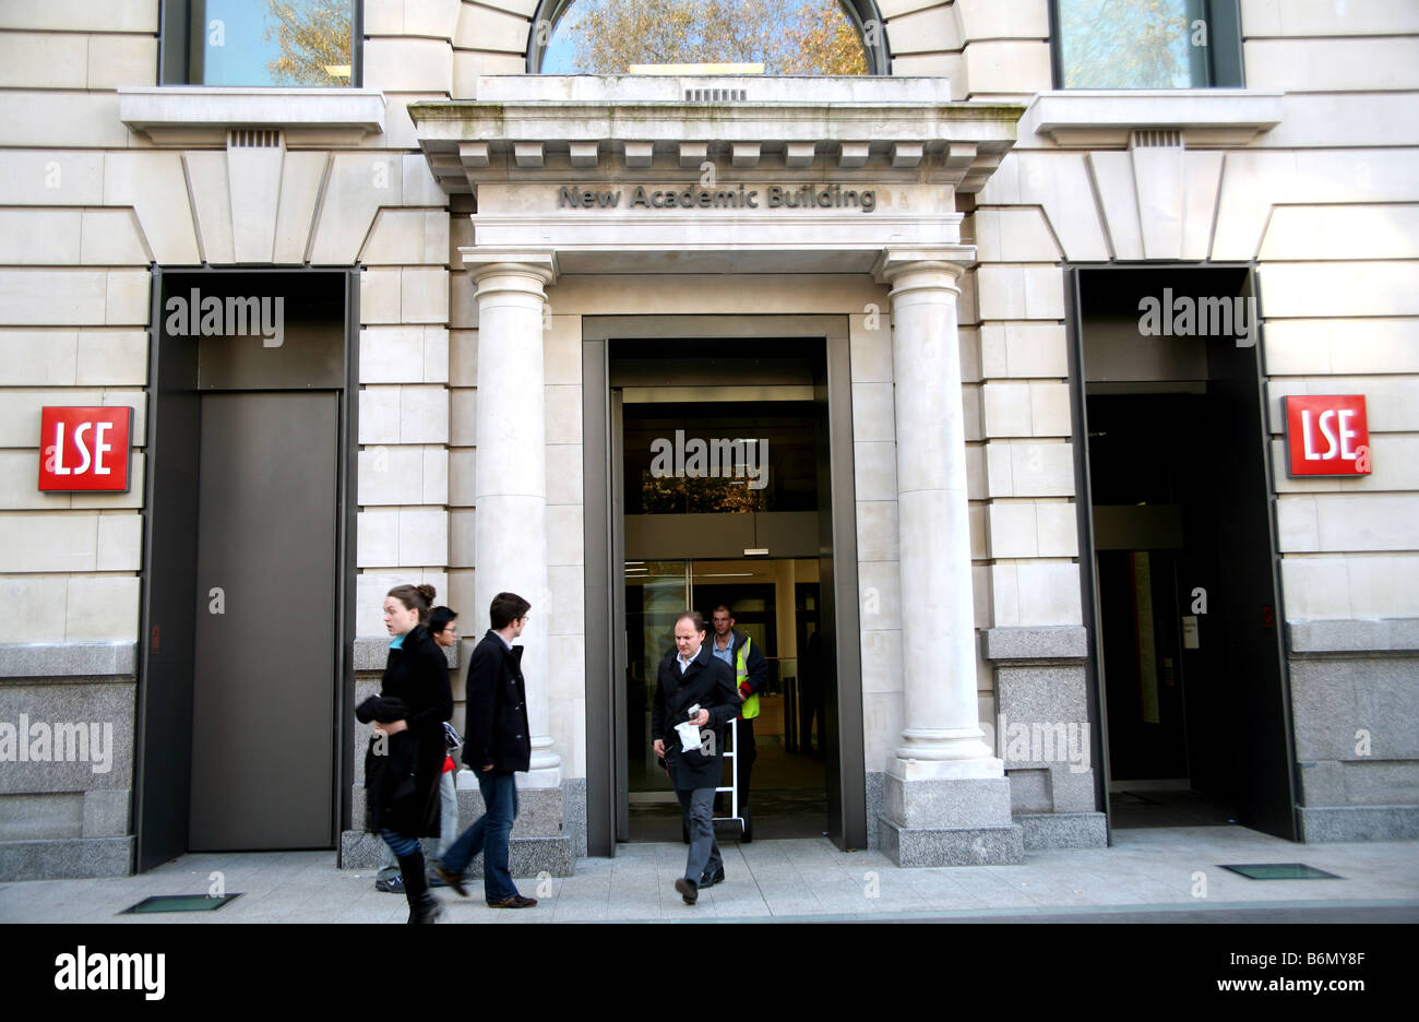
[[[468,659],[468,717],[464,722],[463,761],[478,776],[485,812],[444,852],[434,872],[467,897],[463,872],[482,852],[482,893],[491,908],[531,908],[536,899],[522,897],[508,870],[508,835],[518,815],[517,771],[532,759],[526,690],[522,680],[522,634],[531,603],[517,593],[498,593],[490,608],[491,625]]]

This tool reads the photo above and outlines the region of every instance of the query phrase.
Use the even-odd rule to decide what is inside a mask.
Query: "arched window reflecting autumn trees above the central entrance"
[[[785,75],[887,74],[873,0],[542,0],[532,74],[653,74],[746,65]]]

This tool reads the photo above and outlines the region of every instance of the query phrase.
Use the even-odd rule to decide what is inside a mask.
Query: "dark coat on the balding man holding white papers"
[[[739,714],[739,694],[734,687],[734,671],[729,664],[717,660],[710,652],[710,643],[700,643],[700,653],[685,673],[680,673],[680,654],[671,650],[660,660],[656,674],[656,698],[650,711],[650,738],[666,741],[666,765],[675,791],[695,788],[718,788],[724,776],[725,724]],[[701,728],[704,745],[685,752],[680,745],[675,724],[690,720],[690,707],[700,704],[710,711],[710,722]],[[710,745],[705,730],[714,732]],[[710,754],[710,749],[714,749]]]

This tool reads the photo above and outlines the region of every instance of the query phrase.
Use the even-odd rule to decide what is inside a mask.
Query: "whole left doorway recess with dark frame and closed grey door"
[[[341,271],[158,274],[140,870],[184,852],[333,847],[352,308]]]

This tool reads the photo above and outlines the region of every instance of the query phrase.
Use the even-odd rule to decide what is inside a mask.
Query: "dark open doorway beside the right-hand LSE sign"
[[[1077,271],[1111,826],[1296,836],[1250,298],[1246,268]]]

